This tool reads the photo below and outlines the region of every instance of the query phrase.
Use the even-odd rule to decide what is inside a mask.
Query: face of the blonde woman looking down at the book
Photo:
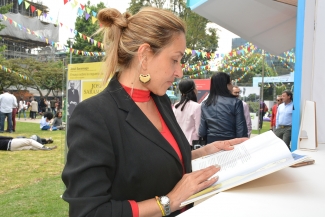
[[[175,78],[183,77],[181,59],[186,49],[183,33],[177,34],[170,45],[158,55],[151,54],[148,58],[147,70],[143,74],[150,74],[151,80],[145,87],[151,92],[162,96],[173,85]]]

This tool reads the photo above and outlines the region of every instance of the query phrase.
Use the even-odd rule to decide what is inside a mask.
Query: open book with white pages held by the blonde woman
[[[192,160],[193,171],[211,165],[220,165],[220,171],[215,174],[215,176],[219,176],[219,179],[211,187],[188,198],[181,203],[181,206],[276,172],[308,158],[308,156],[291,153],[286,144],[273,131],[255,136],[234,147],[231,151],[220,151]]]

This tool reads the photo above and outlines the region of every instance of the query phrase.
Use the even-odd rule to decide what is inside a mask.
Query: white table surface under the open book
[[[315,164],[288,167],[221,192],[178,217],[325,217],[325,144],[296,152]]]

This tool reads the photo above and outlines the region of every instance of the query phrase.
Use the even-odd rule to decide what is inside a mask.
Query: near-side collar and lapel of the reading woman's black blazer
[[[157,128],[150,122],[150,120],[143,114],[141,109],[131,99],[129,94],[124,90],[116,78],[113,78],[108,85],[108,91],[114,98],[117,106],[128,112],[126,122],[138,131],[140,134],[145,136],[147,139],[152,141],[155,145],[161,147],[163,150],[174,156],[179,163],[179,157],[173,147],[167,142],[167,140],[161,135]],[[161,112],[161,111],[160,111]],[[165,118],[165,116],[163,116]]]

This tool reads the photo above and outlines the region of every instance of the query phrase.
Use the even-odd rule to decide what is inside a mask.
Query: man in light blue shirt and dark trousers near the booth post
[[[290,90],[282,92],[282,101],[278,106],[276,113],[276,130],[275,135],[282,139],[290,149],[291,129],[292,129],[292,111],[293,111],[293,94]]]

